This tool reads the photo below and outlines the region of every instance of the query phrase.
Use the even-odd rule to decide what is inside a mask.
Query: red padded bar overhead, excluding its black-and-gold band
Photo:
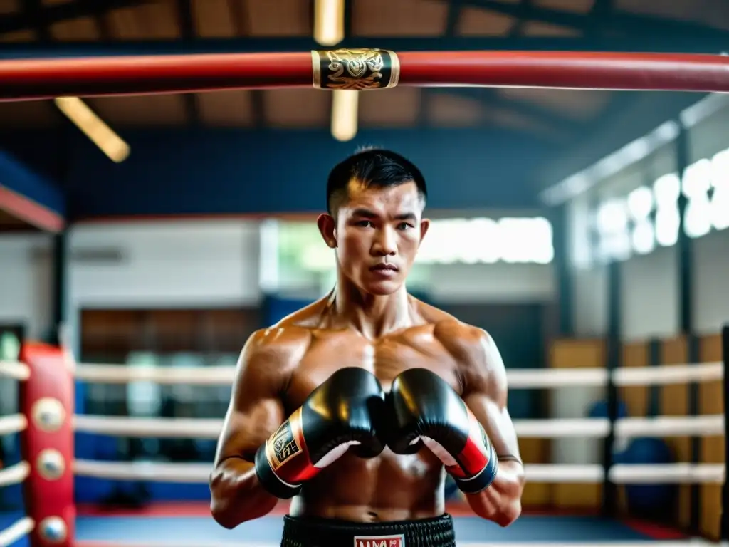
[[[354,50],[359,63],[362,52],[382,50]],[[472,51],[391,57],[399,85],[729,92],[729,58],[720,55]],[[0,101],[312,87],[314,72],[312,53],[12,59],[0,61]]]

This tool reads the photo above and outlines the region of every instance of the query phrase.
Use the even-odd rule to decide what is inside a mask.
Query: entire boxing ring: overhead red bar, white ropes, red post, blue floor
[[[0,101],[58,96],[182,93],[241,88],[313,87],[378,90],[414,86],[521,86],[614,90],[729,92],[729,58],[714,55],[426,52],[332,50],[311,53],[155,55],[0,61]],[[726,360],[726,355],[725,355]],[[102,462],[74,458],[74,433],[155,438],[214,439],[222,419],[140,419],[74,414],[74,383],[230,385],[234,368],[147,369],[77,363],[55,346],[26,343],[17,362],[0,362],[0,375],[18,381],[20,412],[0,418],[0,435],[20,433],[23,461],[0,470],[0,486],[23,484],[26,514],[4,523],[0,547],[32,546],[275,546],[281,518],[265,517],[236,530],[218,527],[209,515],[133,519],[77,516],[74,476],[111,480],[207,484],[211,465]],[[510,370],[510,389],[667,386],[725,381],[725,363],[669,368]],[[726,383],[725,383],[726,386]],[[727,392],[725,387],[724,392]],[[724,436],[725,414],[709,416],[517,420],[519,438],[663,438]],[[526,465],[529,482],[545,484],[724,484],[726,464]],[[456,516],[460,545],[643,545],[645,535],[615,535],[601,521],[587,521],[590,537],[574,537],[523,516],[509,529]],[[717,515],[717,519],[720,515]],[[601,528],[603,527],[603,528]],[[596,540],[597,539],[597,540]],[[23,543],[26,542],[26,543]],[[690,544],[703,543],[691,540]],[[708,542],[706,542],[708,543]],[[651,545],[689,544],[688,540]]]

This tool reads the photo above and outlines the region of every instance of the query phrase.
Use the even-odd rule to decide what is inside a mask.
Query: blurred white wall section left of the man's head
[[[79,310],[254,306],[260,300],[259,223],[243,220],[110,222],[69,233],[69,327]],[[94,260],[94,253],[118,258]]]

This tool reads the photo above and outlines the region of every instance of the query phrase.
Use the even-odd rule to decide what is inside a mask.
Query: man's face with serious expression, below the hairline
[[[349,183],[335,228],[340,270],[365,292],[389,295],[405,282],[428,228],[414,182],[378,188]]]

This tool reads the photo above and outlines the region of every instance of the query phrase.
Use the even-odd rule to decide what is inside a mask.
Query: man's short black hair
[[[428,197],[425,177],[413,162],[383,148],[367,147],[340,161],[327,179],[327,212],[334,214],[337,201],[346,198],[351,180],[366,187],[390,187],[415,182],[423,202]]]

